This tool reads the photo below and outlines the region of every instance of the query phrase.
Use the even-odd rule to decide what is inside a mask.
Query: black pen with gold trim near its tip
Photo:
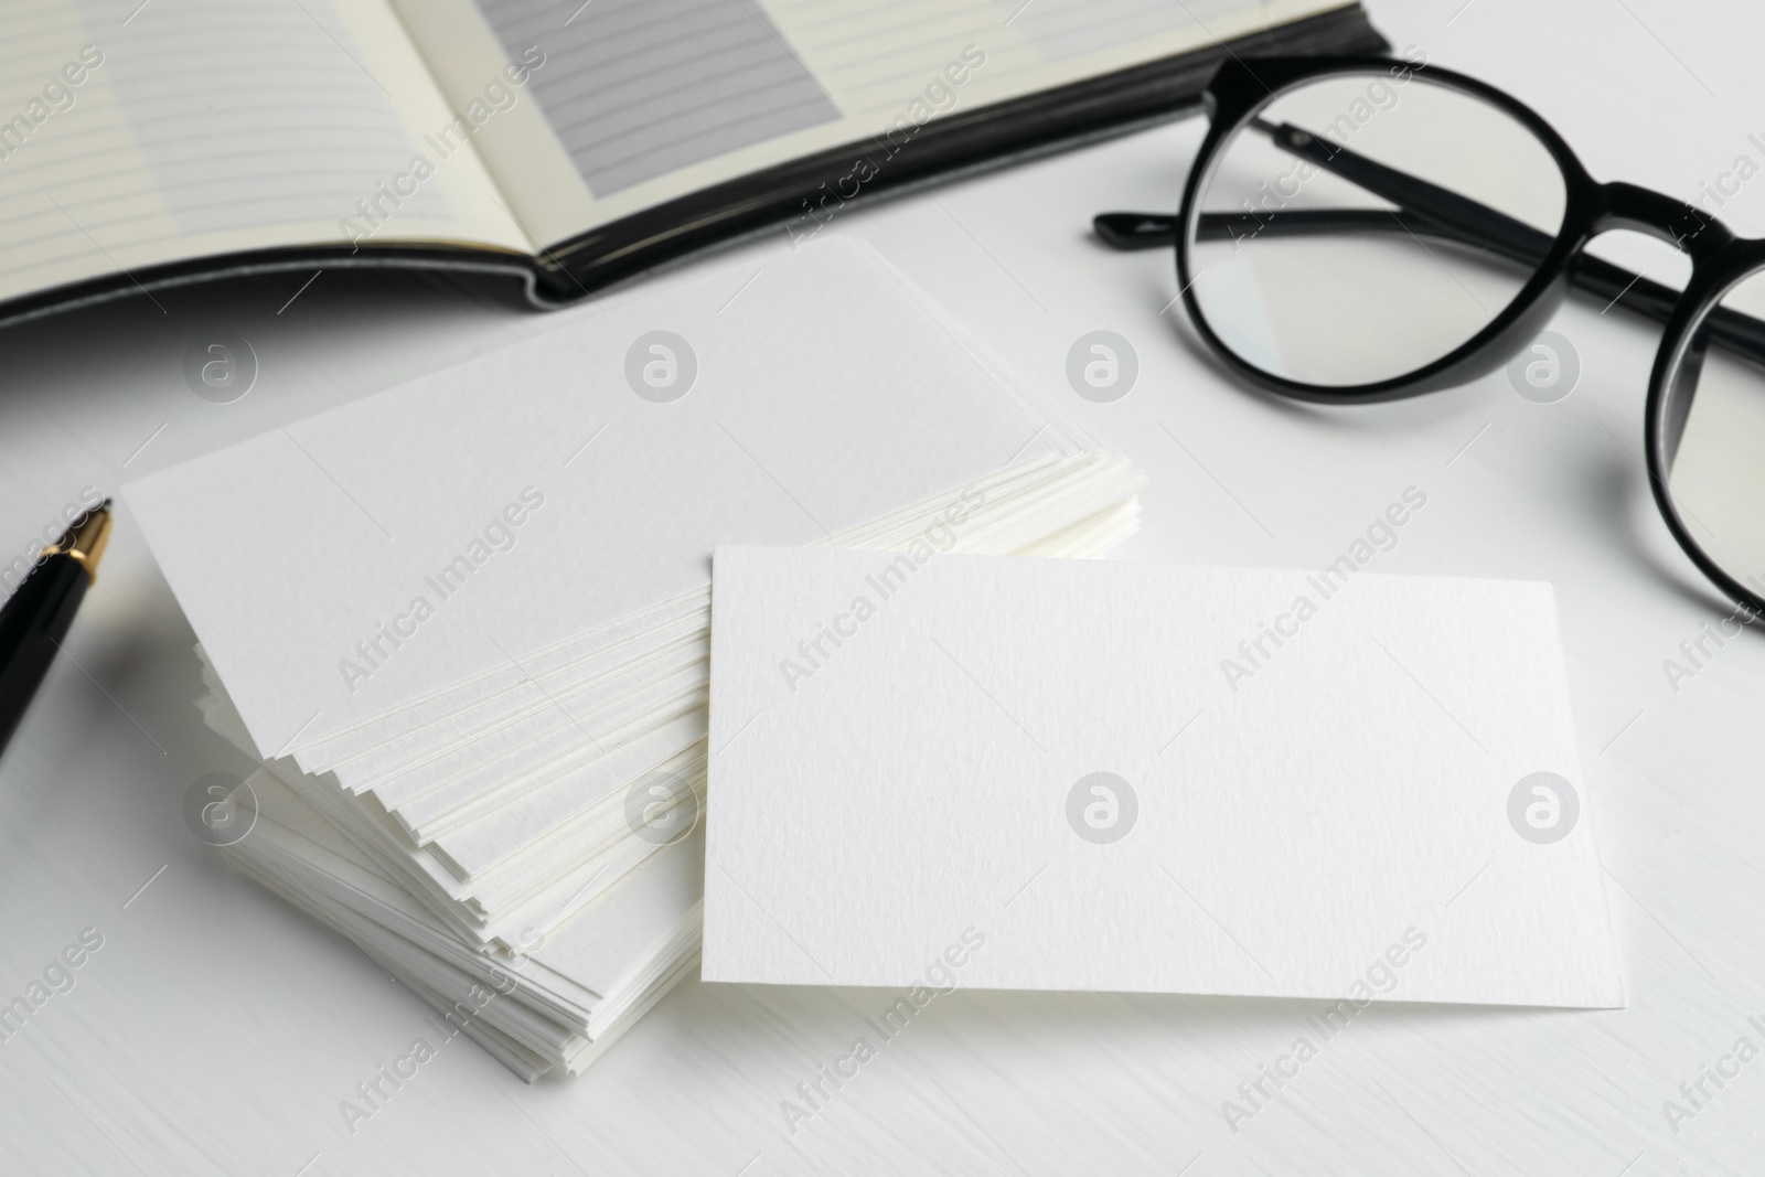
[[[42,549],[37,565],[0,607],[0,750],[25,718],[37,685],[60,649],[74,612],[99,575],[109,540],[109,499],[74,521]]]

